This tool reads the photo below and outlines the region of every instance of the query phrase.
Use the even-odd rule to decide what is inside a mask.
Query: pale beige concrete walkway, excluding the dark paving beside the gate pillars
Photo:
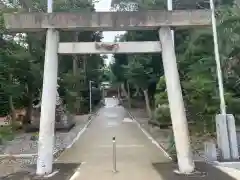
[[[116,99],[106,99],[106,107],[58,159],[58,163],[81,163],[71,180],[163,180],[153,164],[170,160],[117,103]],[[117,173],[112,171],[113,136],[117,142]]]

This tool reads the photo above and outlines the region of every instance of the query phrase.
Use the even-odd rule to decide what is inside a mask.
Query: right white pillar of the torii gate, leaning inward
[[[190,146],[188,124],[171,29],[169,27],[160,28],[159,38],[162,45],[162,61],[176,144],[179,173],[189,174],[194,171],[195,165]]]

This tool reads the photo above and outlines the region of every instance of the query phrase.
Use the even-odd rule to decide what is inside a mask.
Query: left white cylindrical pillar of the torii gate
[[[52,172],[57,95],[59,32],[47,30],[43,75],[42,106],[38,140],[37,175]]]

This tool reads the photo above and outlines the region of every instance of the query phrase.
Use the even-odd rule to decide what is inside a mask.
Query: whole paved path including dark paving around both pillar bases
[[[238,180],[239,172],[196,162],[200,175],[177,175],[164,153],[132,121],[114,99],[106,99],[92,124],[54,164],[54,176],[36,177],[36,167],[13,173],[3,180]],[[112,137],[117,140],[117,173],[112,168]],[[230,177],[228,174],[234,174]]]

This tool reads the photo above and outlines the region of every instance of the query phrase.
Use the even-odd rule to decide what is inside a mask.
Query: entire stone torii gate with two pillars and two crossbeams
[[[179,171],[191,173],[195,166],[179,82],[170,27],[210,26],[210,10],[145,12],[19,13],[5,14],[5,26],[14,32],[47,31],[37,174],[52,172],[58,53],[159,53],[162,51],[168,100],[178,155]],[[160,42],[59,43],[58,31],[158,30]]]

